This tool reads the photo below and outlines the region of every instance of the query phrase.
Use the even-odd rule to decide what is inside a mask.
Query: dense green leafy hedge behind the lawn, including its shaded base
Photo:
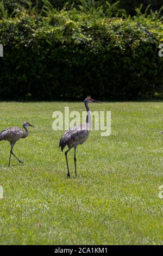
[[[163,25],[155,15],[46,10],[0,20],[1,99],[131,100],[162,92]]]

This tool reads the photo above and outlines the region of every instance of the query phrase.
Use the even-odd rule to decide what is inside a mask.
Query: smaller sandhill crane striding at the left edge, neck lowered
[[[17,156],[12,152],[12,149],[14,148],[14,145],[19,139],[24,139],[28,136],[28,129],[27,126],[34,127],[32,124],[29,124],[28,122],[23,123],[23,127],[26,131],[23,131],[19,127],[11,127],[8,129],[3,130],[0,132],[0,141],[8,141],[11,144],[11,149],[10,149],[10,159],[9,159],[9,166],[10,166],[10,161],[11,161],[11,155],[15,156],[16,159],[20,162]]]

